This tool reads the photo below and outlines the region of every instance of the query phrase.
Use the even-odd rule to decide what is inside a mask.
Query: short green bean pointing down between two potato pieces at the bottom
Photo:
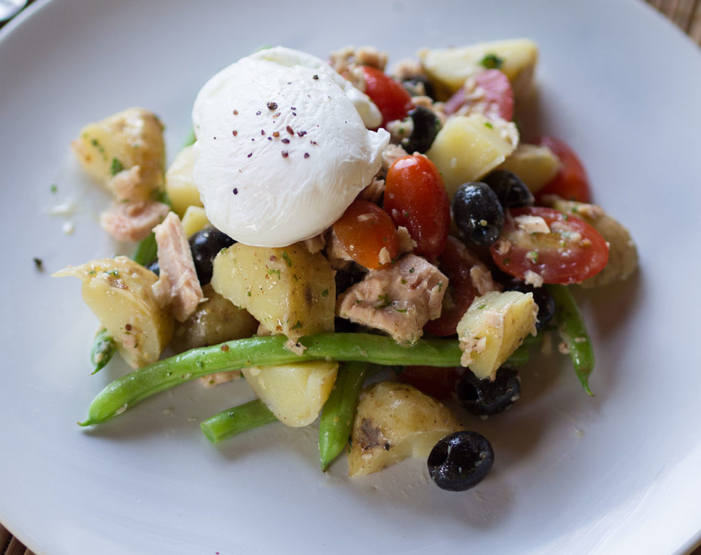
[[[334,389],[324,403],[319,420],[319,458],[323,471],[348,445],[358,394],[367,375],[367,364],[362,362],[339,366]]]

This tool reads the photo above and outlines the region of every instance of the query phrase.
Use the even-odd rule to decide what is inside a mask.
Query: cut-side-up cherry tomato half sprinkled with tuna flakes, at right
[[[529,217],[543,218],[550,232],[538,232]],[[529,271],[535,272],[545,283],[580,283],[608,262],[608,245],[596,229],[542,206],[509,210],[501,236],[489,251],[503,272],[524,280]]]

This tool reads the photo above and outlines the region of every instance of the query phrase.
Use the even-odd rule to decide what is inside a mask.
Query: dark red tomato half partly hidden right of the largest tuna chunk
[[[440,316],[426,322],[423,330],[433,335],[453,335],[458,322],[477,296],[472,285],[470,269],[475,265],[467,247],[453,236],[449,236],[443,252],[438,257],[438,267],[448,278],[448,287],[443,296]]]

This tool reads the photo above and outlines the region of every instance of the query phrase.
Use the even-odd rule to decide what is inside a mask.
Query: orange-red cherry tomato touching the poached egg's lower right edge
[[[346,253],[369,269],[386,267],[399,254],[397,229],[392,218],[370,201],[353,201],[334,224],[334,233]],[[390,259],[386,262],[381,262],[383,248],[387,249],[385,258]]]

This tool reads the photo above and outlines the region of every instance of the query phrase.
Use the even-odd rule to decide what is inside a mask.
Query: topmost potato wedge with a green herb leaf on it
[[[465,79],[484,70],[482,60],[488,55],[502,60],[499,69],[509,78],[517,98],[528,90],[538,62],[538,46],[530,39],[425,50],[419,53],[419,58],[437,87],[439,100],[445,100],[463,86]]]

